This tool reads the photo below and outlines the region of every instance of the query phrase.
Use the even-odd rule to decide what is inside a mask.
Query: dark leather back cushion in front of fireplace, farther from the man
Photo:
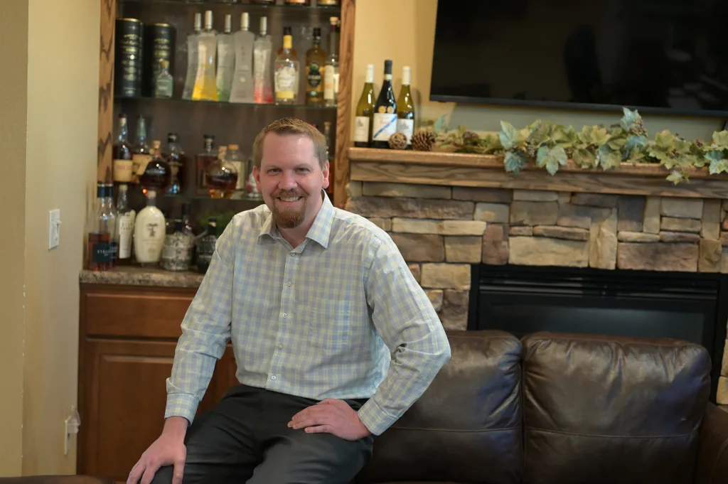
[[[523,482],[692,483],[710,370],[682,341],[526,336]]]

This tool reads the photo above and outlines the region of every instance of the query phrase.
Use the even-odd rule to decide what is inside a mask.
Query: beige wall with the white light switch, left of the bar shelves
[[[7,1],[0,22],[10,24],[6,4],[21,3],[25,19],[12,17],[16,28],[12,36],[22,39],[18,50],[27,57],[17,69],[7,68],[0,90],[3,98],[10,96],[9,87],[22,91],[13,99],[15,109],[8,103],[0,106],[0,137],[8,134],[4,124],[23,120],[21,127],[13,127],[19,146],[6,163],[13,170],[9,174],[6,168],[0,178],[0,186],[12,186],[12,199],[1,191],[4,207],[12,208],[9,213],[18,218],[7,221],[13,237],[1,237],[0,243],[20,245],[3,251],[8,259],[4,266],[20,269],[12,274],[4,270],[2,278],[25,291],[24,301],[17,295],[10,300],[24,304],[24,319],[22,311],[4,318],[4,325],[17,333],[7,342],[15,369],[1,365],[0,381],[4,388],[5,381],[12,383],[10,388],[18,396],[8,400],[15,401],[12,414],[1,412],[0,418],[7,418],[3,428],[21,433],[0,432],[0,449],[12,456],[4,459],[6,453],[0,450],[0,475],[17,475],[21,470],[23,475],[73,473],[76,439],[71,439],[70,452],[64,456],[63,421],[71,405],[77,406],[78,274],[88,186],[95,180],[100,1]],[[23,35],[17,25],[24,25]],[[1,32],[8,34],[7,28]],[[1,55],[7,52],[15,49],[6,48]],[[22,76],[9,79],[15,71]],[[60,246],[48,250],[48,212],[54,208],[60,209],[63,221]],[[9,290],[0,292],[2,298],[9,295]],[[0,352],[0,360],[9,359],[4,353]]]

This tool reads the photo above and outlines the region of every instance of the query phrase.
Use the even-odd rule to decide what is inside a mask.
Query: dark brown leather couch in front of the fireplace
[[[727,484],[699,345],[449,331],[452,357],[356,483]]]

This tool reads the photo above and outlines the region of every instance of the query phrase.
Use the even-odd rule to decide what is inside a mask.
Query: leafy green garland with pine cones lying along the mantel
[[[465,126],[448,132],[443,115],[434,125],[417,130],[412,144],[419,151],[501,155],[505,170],[515,173],[535,162],[555,175],[569,159],[585,170],[605,171],[619,168],[622,162],[659,163],[670,171],[667,180],[675,184],[689,181],[691,167],[707,165],[711,175],[728,172],[728,131],[713,132],[710,144],[691,142],[668,130],[649,139],[638,112],[622,110],[620,122],[609,127],[585,126],[577,132],[571,126],[538,119],[518,130],[502,121],[497,135],[484,136]]]

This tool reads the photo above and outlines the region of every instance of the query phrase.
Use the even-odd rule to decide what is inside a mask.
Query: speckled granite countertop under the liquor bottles
[[[157,287],[199,287],[204,274],[194,271],[165,271],[135,266],[119,266],[110,271],[89,271],[79,274],[84,284],[118,284]]]

